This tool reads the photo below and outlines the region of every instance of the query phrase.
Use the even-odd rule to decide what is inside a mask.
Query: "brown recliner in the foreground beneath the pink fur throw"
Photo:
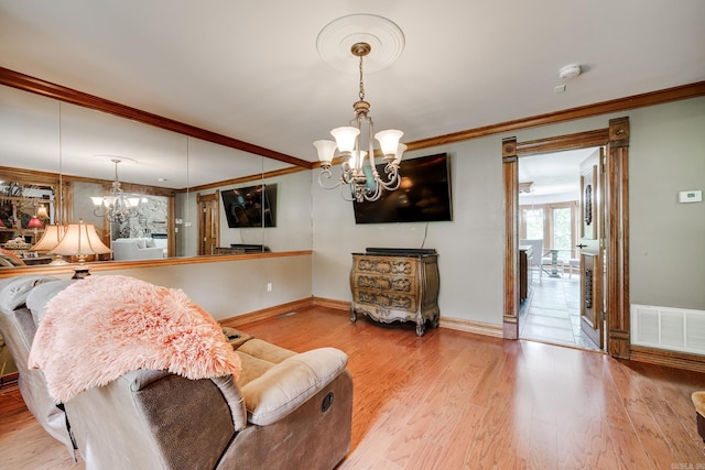
[[[35,321],[51,298],[41,291],[28,296]],[[137,370],[66,401],[86,468],[334,468],[350,445],[346,354],[295,353],[246,334],[232,345],[242,363],[237,382]]]

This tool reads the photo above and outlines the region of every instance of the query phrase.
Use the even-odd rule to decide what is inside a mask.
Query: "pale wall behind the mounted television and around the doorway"
[[[698,98],[409,154],[447,152],[453,159],[454,220],[429,223],[424,244],[438,252],[442,317],[502,323],[502,139],[604,129],[609,119],[623,116],[631,122],[631,302],[705,308],[705,203],[674,204],[676,190],[705,189],[705,98]],[[420,248],[425,223],[356,226],[351,203],[322,189],[316,177],[314,170],[313,294],[350,300],[350,253],[367,247]]]

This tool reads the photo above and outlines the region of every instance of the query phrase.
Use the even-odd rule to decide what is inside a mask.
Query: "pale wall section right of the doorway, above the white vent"
[[[705,310],[705,98],[631,117],[629,227],[631,303]]]

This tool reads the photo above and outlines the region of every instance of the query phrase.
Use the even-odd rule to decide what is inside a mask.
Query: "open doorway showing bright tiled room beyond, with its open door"
[[[523,259],[530,270],[520,276],[522,339],[588,350],[604,347],[604,321],[589,316],[604,291],[601,282],[593,281],[595,259],[585,252],[588,244],[600,251],[594,241],[604,226],[597,214],[601,172],[593,165],[603,156],[603,147],[586,147],[519,159],[520,271]]]

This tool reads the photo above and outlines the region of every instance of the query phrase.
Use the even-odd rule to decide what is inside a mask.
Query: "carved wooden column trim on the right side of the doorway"
[[[606,157],[607,350],[629,359],[629,118],[609,121]]]

